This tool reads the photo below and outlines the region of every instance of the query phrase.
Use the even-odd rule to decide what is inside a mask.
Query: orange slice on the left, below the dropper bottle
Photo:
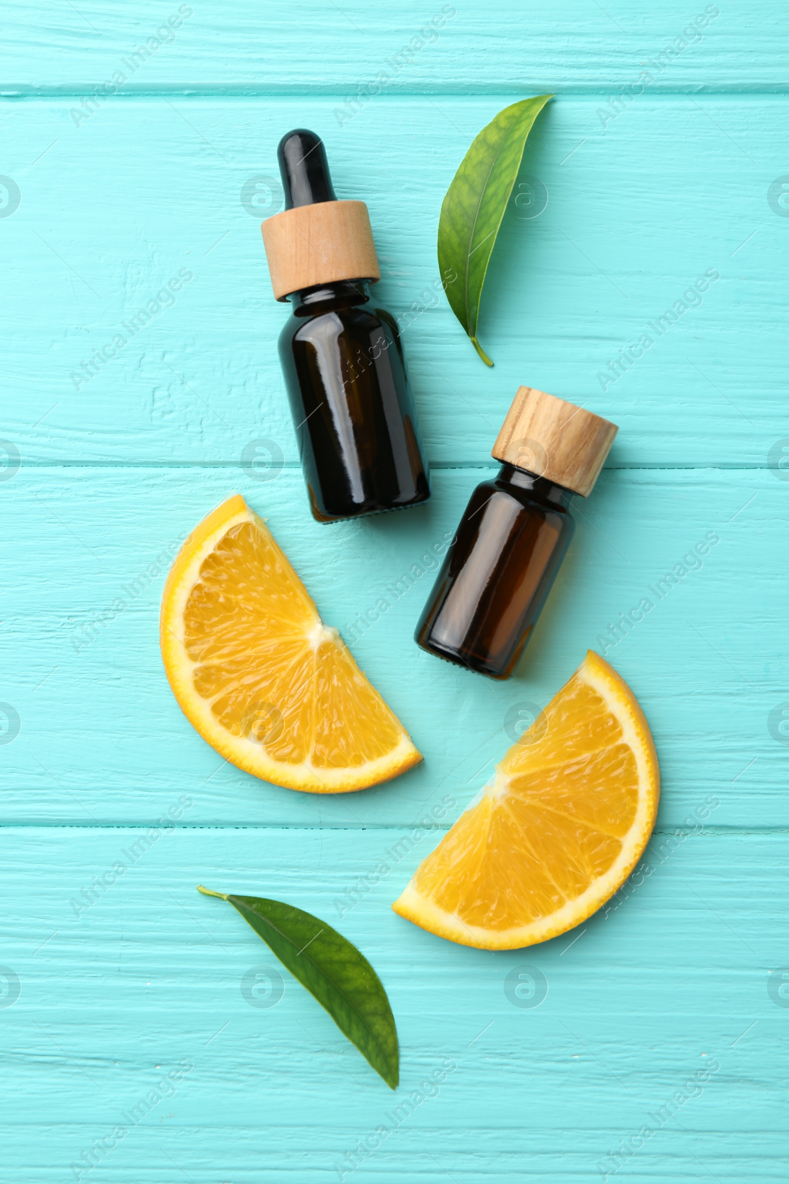
[[[177,554],[160,638],[181,710],[247,773],[308,793],[344,793],[422,759],[239,495]]]

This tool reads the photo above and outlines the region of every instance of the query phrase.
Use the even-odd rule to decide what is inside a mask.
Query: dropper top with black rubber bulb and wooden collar
[[[260,226],[277,300],[341,279],[380,279],[367,206],[337,200],[319,136],[289,131],[277,157],[285,208]]]

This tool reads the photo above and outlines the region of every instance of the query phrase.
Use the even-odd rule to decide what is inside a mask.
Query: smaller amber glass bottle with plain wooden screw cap
[[[418,625],[423,650],[511,676],[570,545],[570,498],[591,493],[617,430],[519,387],[491,453],[500,472],[471,495]]]

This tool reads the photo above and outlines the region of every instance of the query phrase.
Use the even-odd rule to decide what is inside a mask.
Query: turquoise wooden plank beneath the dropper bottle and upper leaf
[[[258,438],[296,459],[286,311],[240,194],[306,123],[338,192],[369,201],[376,297],[405,327],[435,463],[486,461],[525,382],[620,424],[610,465],[765,465],[789,435],[776,268],[789,223],[768,204],[785,99],[644,95],[604,127],[600,97],[550,104],[523,174],[548,206],[533,219],[511,206],[483,300],[490,371],[436,290],[435,236],[468,140],[506,101],[382,97],[343,128],[316,97],[135,98],[79,128],[70,98],[2,104],[2,167],[21,193],[2,221],[4,438],[26,464],[237,464]],[[93,350],[116,354],[91,375]]]

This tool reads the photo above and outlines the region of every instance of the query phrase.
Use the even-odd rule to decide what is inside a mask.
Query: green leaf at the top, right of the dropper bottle
[[[526,137],[552,97],[524,98],[499,111],[463,157],[441,205],[439,269],[445,291],[452,311],[486,366],[493,362],[477,341],[477,321],[487,264],[520,168]],[[453,272],[455,278],[447,281]]]

